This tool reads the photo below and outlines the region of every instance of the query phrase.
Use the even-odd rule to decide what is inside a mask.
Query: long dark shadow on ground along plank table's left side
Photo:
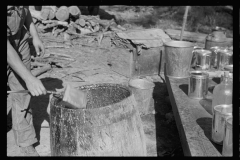
[[[178,130],[172,114],[166,83],[155,82],[153,90],[158,156],[184,156]],[[167,118],[166,114],[172,115]]]

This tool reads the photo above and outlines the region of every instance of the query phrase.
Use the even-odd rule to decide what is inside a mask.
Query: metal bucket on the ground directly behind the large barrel
[[[132,79],[129,81],[129,86],[136,99],[140,115],[148,114],[155,84],[146,79]]]

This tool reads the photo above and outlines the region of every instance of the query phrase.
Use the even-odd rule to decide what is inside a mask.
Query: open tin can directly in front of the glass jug
[[[225,118],[232,115],[232,104],[216,105],[213,108],[212,141],[222,145],[225,131]]]

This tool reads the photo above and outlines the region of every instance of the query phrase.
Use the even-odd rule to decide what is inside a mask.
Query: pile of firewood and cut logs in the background
[[[112,20],[101,20],[99,16],[82,15],[77,6],[43,6],[41,11],[29,7],[33,21],[39,32],[52,32],[54,37],[63,35],[83,36],[92,33],[104,34],[107,31],[124,31],[125,28]],[[64,34],[63,34],[64,33]]]

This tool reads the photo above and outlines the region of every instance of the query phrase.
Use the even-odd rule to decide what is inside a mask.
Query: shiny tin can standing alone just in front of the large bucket
[[[193,99],[203,99],[208,93],[209,74],[204,71],[191,71],[188,82],[188,96]]]

